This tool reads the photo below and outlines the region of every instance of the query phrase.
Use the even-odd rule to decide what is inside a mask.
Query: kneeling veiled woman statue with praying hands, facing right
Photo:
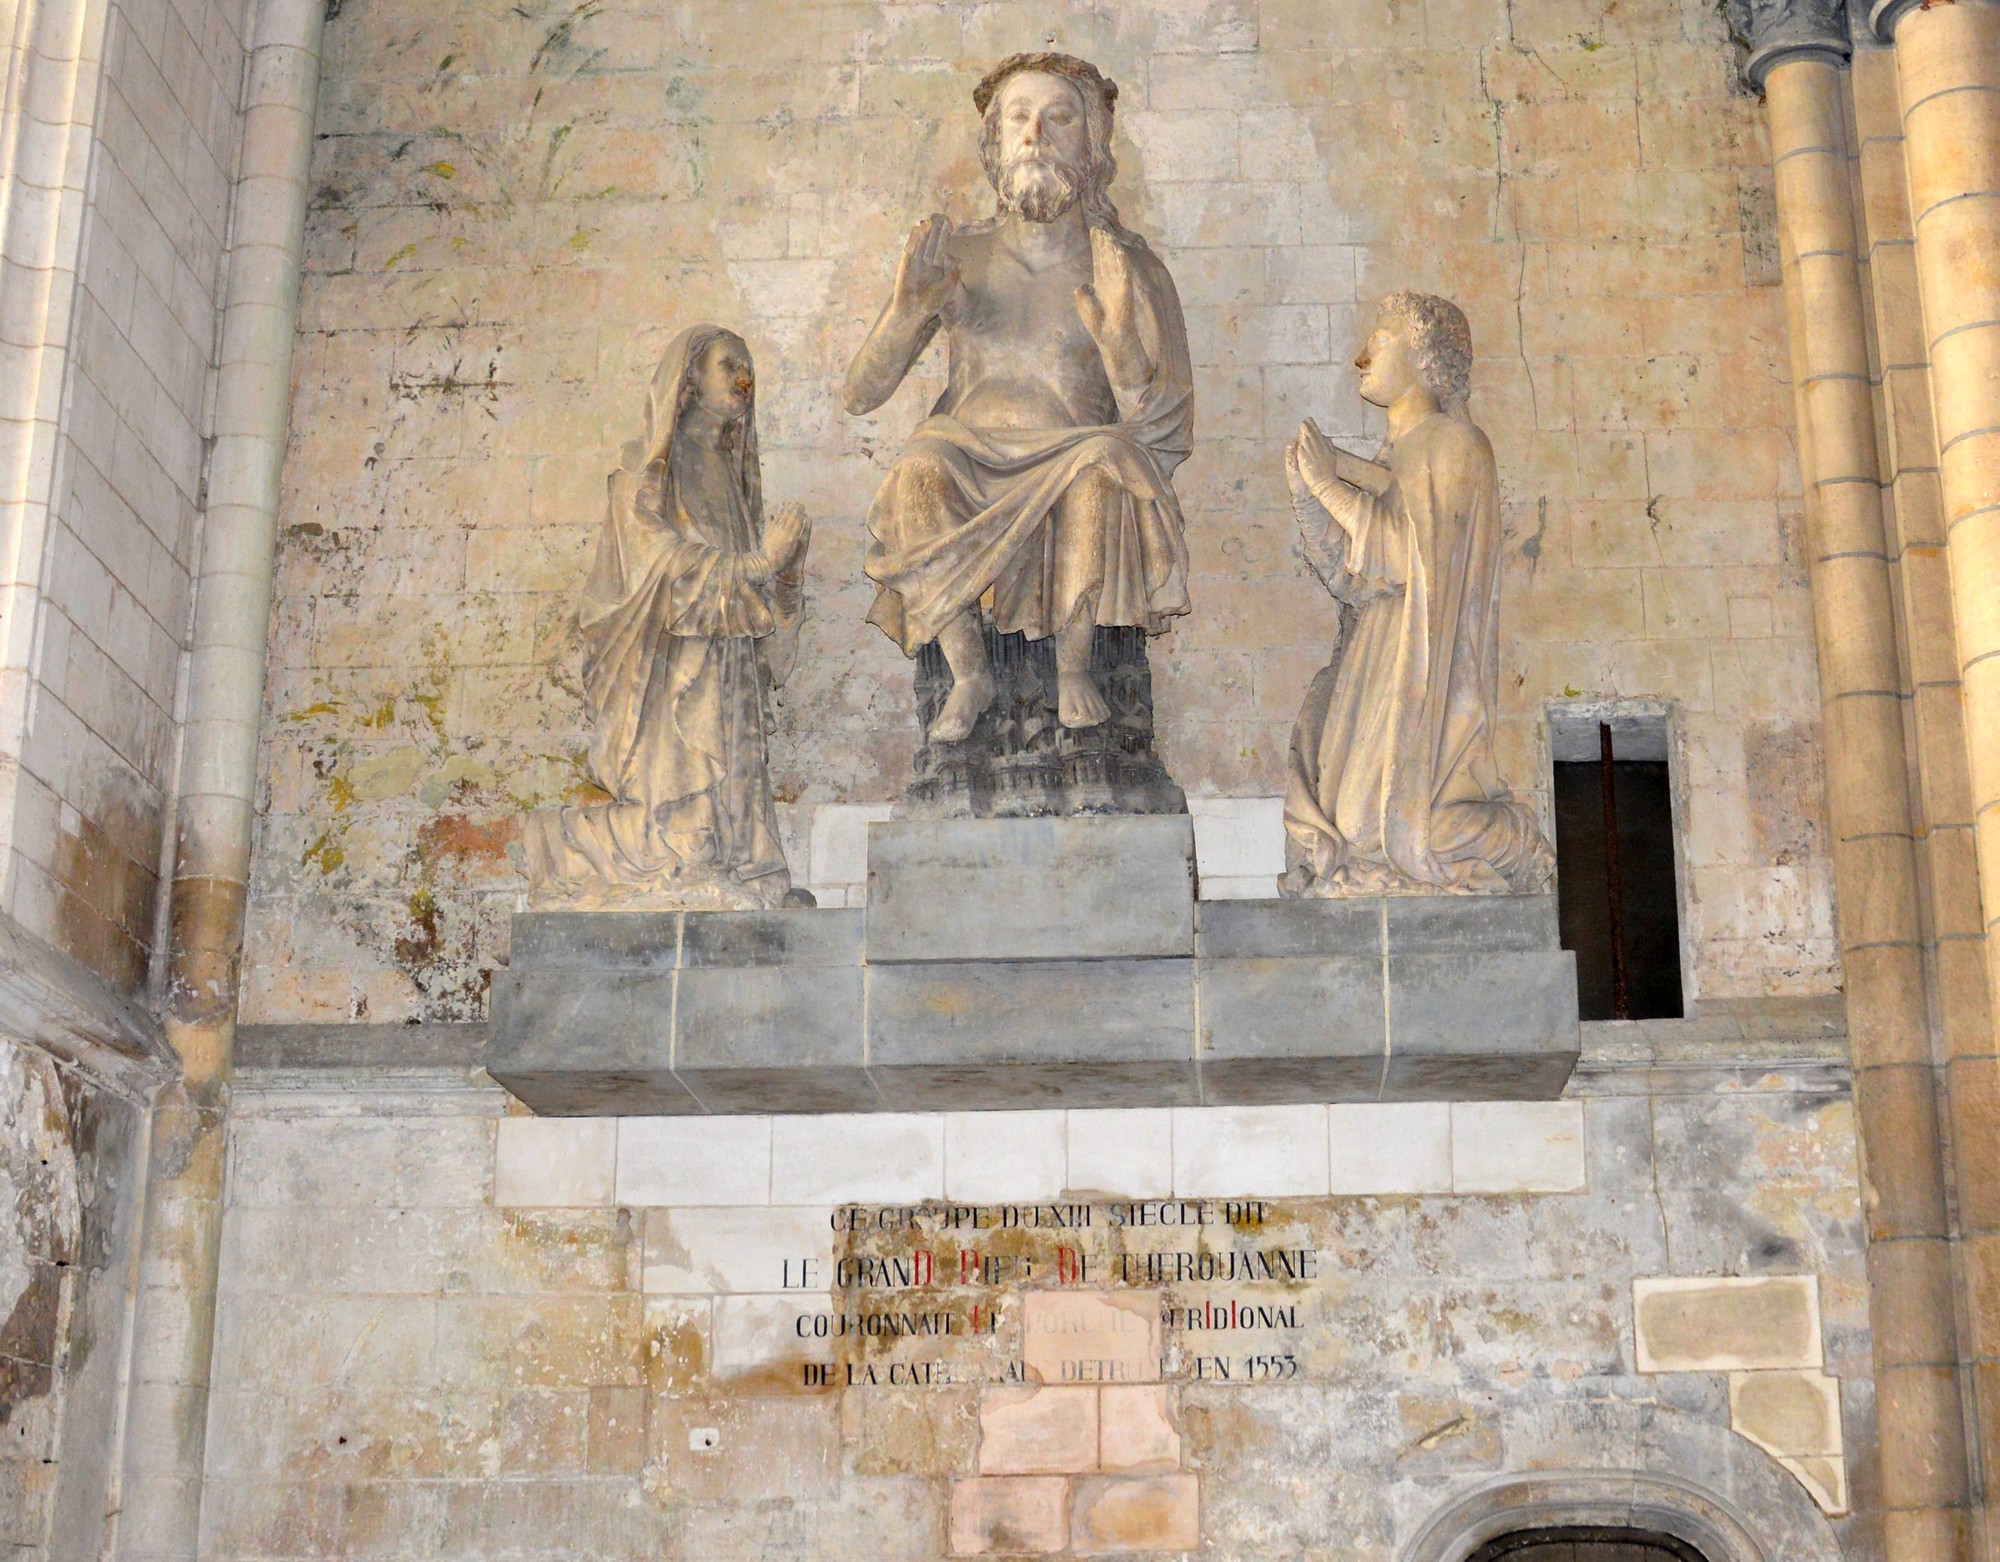
[[[796,504],[764,518],[750,348],[720,326],[684,330],[610,476],[576,614],[590,772],[610,796],[530,820],[536,904],[786,902],[764,734],[798,644],[808,536]]]

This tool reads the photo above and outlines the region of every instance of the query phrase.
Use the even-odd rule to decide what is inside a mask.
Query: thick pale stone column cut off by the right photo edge
[[[2000,1012],[2000,4],[1874,0],[1896,46],[1904,172],[1930,358],[1946,556],[1964,692],[1988,1002]],[[1948,1064],[1972,1432],[2000,1482],[2000,1058]],[[1982,1504],[1990,1508],[1992,1504]],[[2000,1556],[2000,1522],[1982,1522]]]

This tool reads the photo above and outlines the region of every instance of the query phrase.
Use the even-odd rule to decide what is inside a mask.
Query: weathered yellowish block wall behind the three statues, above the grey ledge
[[[692,320],[746,332],[766,492],[818,520],[772,740],[794,864],[822,808],[896,796],[862,514],[938,366],[870,418],[834,388],[908,226],[988,210],[972,82],[1050,40],[1122,86],[1116,196],[1198,366],[1194,612],[1154,648],[1178,780],[1280,790],[1332,624],[1282,444],[1378,438],[1346,362],[1376,296],[1440,290],[1500,452],[1510,776],[1546,790],[1550,702],[1666,702],[1690,996],[1834,986],[1768,148],[1714,6],[348,0],[326,38],[246,1018],[484,1012],[518,816],[586,782],[604,474]]]

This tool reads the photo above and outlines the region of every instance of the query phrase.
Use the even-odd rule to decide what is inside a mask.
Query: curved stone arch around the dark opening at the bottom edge
[[[1506,1476],[1436,1512],[1404,1550],[1402,1562],[1600,1562],[1586,1550],[1544,1556],[1516,1536],[1606,1534],[1646,1538],[1652,1554],[1604,1552],[1616,1562],[1768,1562],[1742,1520],[1720,1498],[1672,1476],[1616,1470],[1564,1470]],[[1676,1550],[1678,1548],[1678,1550]]]

